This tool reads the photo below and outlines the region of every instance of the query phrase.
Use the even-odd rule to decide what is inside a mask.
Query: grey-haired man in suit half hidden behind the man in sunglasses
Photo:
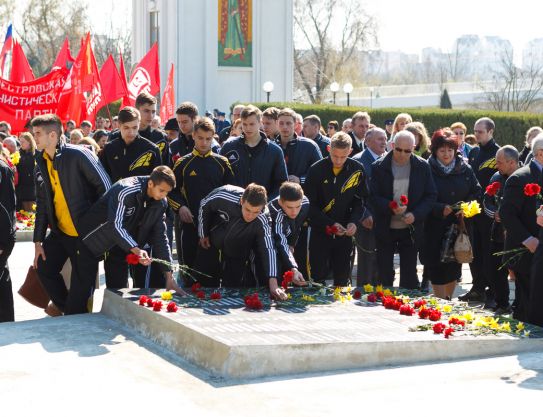
[[[364,140],[366,149],[353,156],[355,161],[364,165],[366,178],[371,178],[372,164],[386,153],[387,135],[378,127],[368,130]],[[368,207],[371,211],[371,207]],[[369,215],[360,222],[362,227],[356,230],[356,285],[358,287],[366,284],[378,283],[377,255],[375,246],[375,231],[373,228],[373,216]]]

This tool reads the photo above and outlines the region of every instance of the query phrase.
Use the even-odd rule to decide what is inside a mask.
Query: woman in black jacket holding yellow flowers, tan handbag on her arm
[[[433,292],[439,298],[451,298],[456,280],[462,275],[462,265],[457,262],[441,262],[441,246],[447,229],[458,223],[460,213],[451,208],[460,201],[477,200],[481,186],[475,174],[456,151],[458,144],[447,137],[443,130],[432,135],[432,156],[428,160],[438,197],[424,224],[422,263],[432,282]]]

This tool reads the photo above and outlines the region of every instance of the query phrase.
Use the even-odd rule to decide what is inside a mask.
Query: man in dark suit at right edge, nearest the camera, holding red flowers
[[[536,196],[527,196],[524,192],[527,184],[542,186],[541,173],[543,168],[543,136],[533,142],[534,159],[516,170],[505,182],[503,200],[499,210],[505,229],[505,250],[527,248],[518,260],[511,262],[509,268],[515,273],[515,291],[517,306],[513,317],[517,320],[528,318],[530,297],[530,269],[533,254],[539,246],[539,226],[537,225],[536,210],[539,201]],[[537,156],[536,156],[537,155]],[[505,256],[507,257],[507,255]],[[534,276],[535,278],[535,276]],[[538,277],[541,279],[541,277]]]

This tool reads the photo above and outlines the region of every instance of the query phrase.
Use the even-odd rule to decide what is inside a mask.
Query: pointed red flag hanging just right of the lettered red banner
[[[83,119],[94,120],[104,104],[100,73],[87,33],[60,95],[57,114],[63,121],[73,119],[79,125]]]

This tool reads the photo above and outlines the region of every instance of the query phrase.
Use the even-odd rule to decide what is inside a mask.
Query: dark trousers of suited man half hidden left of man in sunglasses
[[[379,274],[377,268],[377,247],[375,232],[358,225],[356,237],[356,286],[364,284],[378,284]]]

